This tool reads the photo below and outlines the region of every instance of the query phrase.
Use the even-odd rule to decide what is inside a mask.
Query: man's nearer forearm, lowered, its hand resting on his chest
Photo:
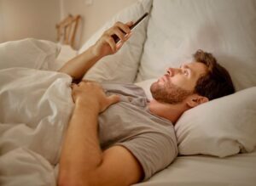
[[[75,105],[61,151],[59,184],[72,180],[83,182],[82,178],[88,178],[102,163],[97,116],[96,108]]]

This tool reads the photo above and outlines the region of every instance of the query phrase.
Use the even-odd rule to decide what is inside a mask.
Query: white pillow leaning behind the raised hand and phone
[[[150,10],[151,3],[151,0],[138,1],[115,15],[113,19],[108,21],[94,36],[90,37],[90,40],[79,50],[79,54],[93,45],[98,38],[102,36],[103,31],[113,26],[115,22],[121,21],[125,23],[130,20],[136,21],[145,12]],[[98,82],[134,82],[146,38],[147,24],[148,20],[145,20],[143,24],[137,26],[131,38],[125,42],[119,52],[99,60],[96,65],[84,75],[84,79]]]

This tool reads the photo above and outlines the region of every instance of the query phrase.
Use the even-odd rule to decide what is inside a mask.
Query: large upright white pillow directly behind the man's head
[[[201,48],[230,71],[236,90],[256,86],[255,20],[255,0],[154,0],[137,82]]]

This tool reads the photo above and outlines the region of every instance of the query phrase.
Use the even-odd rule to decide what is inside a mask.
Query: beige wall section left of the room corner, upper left
[[[35,37],[55,41],[59,0],[0,0],[0,42]]]

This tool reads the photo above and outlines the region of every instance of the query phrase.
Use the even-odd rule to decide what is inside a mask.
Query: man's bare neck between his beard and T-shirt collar
[[[184,103],[166,104],[160,103],[155,99],[150,100],[148,107],[154,115],[172,121],[172,124],[175,124],[183,112],[189,109]]]

